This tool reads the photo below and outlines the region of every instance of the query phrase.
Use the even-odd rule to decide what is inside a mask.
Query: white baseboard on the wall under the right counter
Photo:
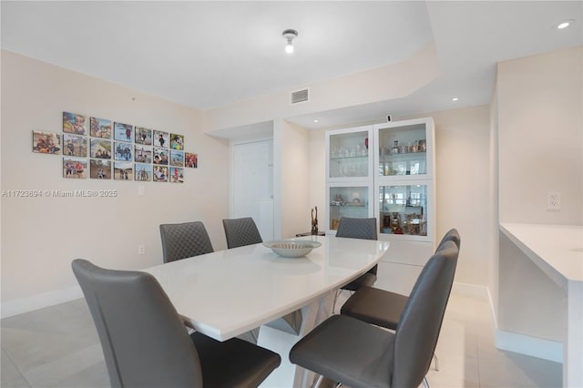
[[[496,329],[496,348],[553,362],[563,362],[563,343]]]

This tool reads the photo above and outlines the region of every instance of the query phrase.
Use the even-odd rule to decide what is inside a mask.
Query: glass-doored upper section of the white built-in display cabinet
[[[431,117],[326,132],[326,231],[377,219],[379,239],[435,241]]]

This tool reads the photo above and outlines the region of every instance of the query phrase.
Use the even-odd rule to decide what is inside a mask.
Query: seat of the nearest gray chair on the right
[[[389,387],[393,346],[394,333],[332,315],[292,347],[290,361],[344,385]]]

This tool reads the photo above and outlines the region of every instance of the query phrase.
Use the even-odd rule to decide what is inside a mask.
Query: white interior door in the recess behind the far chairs
[[[273,141],[232,146],[231,217],[252,217],[264,241],[273,240]]]

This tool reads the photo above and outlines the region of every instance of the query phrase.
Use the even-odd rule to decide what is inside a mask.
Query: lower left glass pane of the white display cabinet
[[[337,230],[342,217],[365,219],[369,216],[369,188],[331,187],[329,190],[329,230]]]

